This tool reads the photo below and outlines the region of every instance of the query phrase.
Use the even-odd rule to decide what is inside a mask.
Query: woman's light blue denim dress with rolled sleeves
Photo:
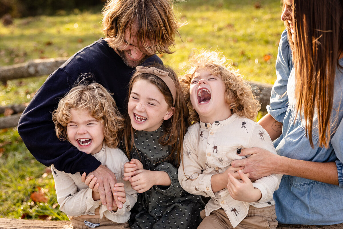
[[[339,60],[343,66],[343,58]],[[341,71],[343,71],[341,69]],[[272,89],[268,112],[283,123],[282,135],[275,140],[277,154],[288,158],[315,161],[335,161],[339,186],[284,175],[274,192],[277,220],[282,224],[331,225],[343,222],[343,73],[336,70],[334,102],[331,114],[329,148],[318,146],[317,115],[314,116],[311,148],[305,135],[304,122],[296,113],[295,74],[286,30],[282,33],[276,60],[276,81]]]

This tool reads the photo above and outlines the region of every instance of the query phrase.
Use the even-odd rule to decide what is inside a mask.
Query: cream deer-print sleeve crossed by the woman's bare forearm
[[[251,145],[249,147],[259,147],[276,154],[274,145],[267,131],[265,131],[259,124],[256,124],[253,128],[250,143]],[[261,191],[262,197],[257,202],[250,204],[265,203],[270,201],[270,199],[273,198],[274,191],[279,188],[281,178],[281,174],[271,174],[269,176],[264,176],[252,183],[255,188],[258,188]]]

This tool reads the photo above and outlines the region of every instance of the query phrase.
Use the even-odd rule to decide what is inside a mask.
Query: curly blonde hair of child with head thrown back
[[[189,88],[194,73],[198,69],[206,69],[214,76],[221,76],[225,83],[225,97],[233,113],[254,119],[261,108],[260,102],[252,93],[251,87],[223,56],[214,51],[201,51],[189,57],[189,70],[181,78],[182,89],[185,93],[189,108],[189,125],[200,121],[198,113],[194,110],[189,97]]]

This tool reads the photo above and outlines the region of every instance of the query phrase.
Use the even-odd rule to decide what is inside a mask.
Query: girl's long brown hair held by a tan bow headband
[[[179,83],[179,79],[173,69],[168,66],[155,64],[152,66],[146,67],[155,67],[157,69],[161,69],[163,71],[168,72],[169,77],[174,81],[175,88],[176,88],[176,96],[175,96],[175,110],[174,114],[168,119],[163,121],[163,129],[164,135],[159,139],[159,143],[163,146],[169,145],[171,147],[171,151],[169,157],[165,158],[164,160],[173,160],[175,164],[180,164],[180,155],[182,151],[182,140],[184,135],[187,132],[187,118],[188,118],[188,107],[186,105],[184,94],[182,93],[181,85]],[[132,91],[133,84],[137,80],[146,80],[154,85],[156,85],[157,89],[161,91],[164,95],[165,101],[168,104],[168,108],[173,107],[173,96],[169,88],[167,87],[166,83],[159,77],[150,74],[150,73],[142,73],[136,71],[132,79],[129,83],[129,97]],[[129,101],[129,99],[128,99]],[[126,112],[126,119],[125,119],[125,129],[123,132],[123,148],[125,149],[127,156],[130,158],[130,151],[132,147],[135,147],[134,144],[134,129],[131,125],[130,117]],[[137,152],[139,152],[137,150]]]

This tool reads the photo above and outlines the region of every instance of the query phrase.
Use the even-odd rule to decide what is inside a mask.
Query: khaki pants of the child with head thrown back
[[[223,208],[214,210],[205,217],[205,210],[200,212],[203,218],[198,229],[233,229],[230,220]],[[256,208],[250,205],[248,215],[235,227],[235,229],[276,229],[277,221],[275,205]]]

